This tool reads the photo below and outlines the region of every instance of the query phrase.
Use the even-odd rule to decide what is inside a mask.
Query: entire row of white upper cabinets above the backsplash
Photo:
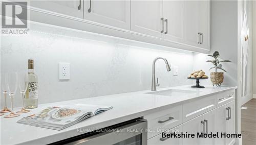
[[[188,51],[210,50],[210,1],[30,0],[30,5],[40,8],[32,13],[35,21]]]

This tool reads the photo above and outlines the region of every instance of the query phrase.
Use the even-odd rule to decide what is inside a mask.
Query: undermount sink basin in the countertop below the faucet
[[[147,94],[156,94],[156,95],[165,95],[165,96],[184,96],[190,94],[196,94],[198,91],[194,90],[179,90],[179,89],[168,89],[168,90],[159,90],[146,92]]]

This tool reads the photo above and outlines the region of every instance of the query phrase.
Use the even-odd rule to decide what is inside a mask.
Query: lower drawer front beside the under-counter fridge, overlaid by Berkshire
[[[169,134],[169,133],[181,133],[182,132],[182,125],[177,126],[173,129],[170,129],[168,131],[166,131],[165,133]],[[164,145],[164,144],[168,144],[168,145],[182,145],[183,144],[183,138],[162,138],[162,133],[147,140],[147,144],[148,145]]]

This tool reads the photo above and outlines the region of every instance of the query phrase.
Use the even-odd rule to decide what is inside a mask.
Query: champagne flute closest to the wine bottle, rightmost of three
[[[16,113],[27,113],[30,111],[24,108],[24,98],[25,98],[25,93],[28,89],[28,83],[29,83],[29,76],[27,73],[18,74],[18,87],[19,87],[19,92],[22,94],[22,110],[17,111]]]

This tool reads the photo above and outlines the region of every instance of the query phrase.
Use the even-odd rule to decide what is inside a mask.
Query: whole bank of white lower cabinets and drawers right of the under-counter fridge
[[[197,99],[186,104],[169,108],[164,111],[155,112],[153,114],[148,114],[145,117],[163,119],[166,116],[175,116],[174,118],[180,119],[183,116],[182,122],[176,122],[180,124],[175,124],[177,127],[168,130],[166,127],[171,127],[168,124],[174,125],[172,122],[167,122],[164,126],[156,126],[155,124],[150,124],[150,128],[162,128],[167,130],[166,133],[172,133],[176,130],[176,133],[183,134],[195,134],[195,137],[188,138],[162,138],[162,134],[159,132],[158,135],[150,137],[148,139],[148,144],[184,144],[184,145],[219,145],[226,144],[232,145],[235,143],[235,138],[228,138],[221,136],[221,134],[234,134],[235,131],[235,105],[234,105],[234,90],[225,91],[215,95],[207,96],[202,99]],[[223,104],[225,103],[225,104]],[[221,106],[218,106],[218,105]],[[181,107],[182,106],[182,107]],[[176,109],[175,109],[176,108]],[[178,111],[182,108],[181,111]],[[206,109],[207,108],[207,109]],[[210,110],[209,110],[210,109]],[[175,112],[179,112],[176,113]],[[192,112],[192,113],[191,113]],[[196,113],[193,113],[196,112]],[[166,114],[166,115],[156,115],[156,114]],[[177,115],[179,114],[179,115]],[[193,114],[193,115],[190,115]],[[188,117],[193,116],[193,118]],[[185,117],[185,118],[184,118]],[[149,122],[153,122],[152,119]],[[177,131],[178,130],[178,131]],[[208,134],[208,137],[199,137],[201,134]],[[218,133],[218,137],[210,137]]]

